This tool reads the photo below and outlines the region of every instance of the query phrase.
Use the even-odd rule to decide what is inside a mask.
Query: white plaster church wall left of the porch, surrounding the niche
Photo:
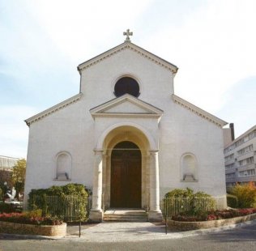
[[[86,116],[83,98],[30,125],[25,196],[31,189],[81,183],[92,187],[93,120]],[[71,181],[55,181],[56,155],[72,157]]]

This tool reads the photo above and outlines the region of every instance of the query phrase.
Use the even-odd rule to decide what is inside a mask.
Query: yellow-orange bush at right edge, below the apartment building
[[[253,182],[245,185],[235,185],[232,194],[237,196],[237,206],[239,208],[253,207],[256,203],[256,187]]]

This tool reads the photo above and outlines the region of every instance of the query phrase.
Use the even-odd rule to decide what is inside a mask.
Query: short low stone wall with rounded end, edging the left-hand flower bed
[[[66,236],[66,223],[62,223],[62,225],[46,226],[0,221],[0,232],[21,235],[63,237]]]

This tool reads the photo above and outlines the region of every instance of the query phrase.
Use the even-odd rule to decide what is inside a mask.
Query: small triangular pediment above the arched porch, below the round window
[[[161,117],[163,111],[126,94],[92,108],[90,113],[92,117]]]

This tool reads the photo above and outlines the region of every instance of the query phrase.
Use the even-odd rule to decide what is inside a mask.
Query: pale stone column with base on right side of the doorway
[[[159,164],[158,151],[150,151],[150,202],[149,221],[162,221],[163,215],[160,211],[159,195]]]

